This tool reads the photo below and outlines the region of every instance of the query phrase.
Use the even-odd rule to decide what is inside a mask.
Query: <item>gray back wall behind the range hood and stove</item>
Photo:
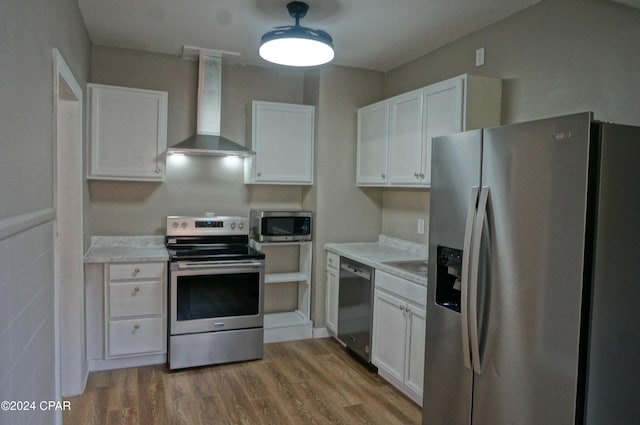
[[[302,103],[304,72],[224,65],[222,135],[245,140],[251,100]],[[94,46],[91,82],[169,93],[167,145],[195,134],[198,64],[177,56]],[[252,207],[300,208],[300,187],[245,185],[243,164],[217,157],[167,158],[164,183],[90,181],[93,235],[162,235],[167,215],[246,216]]]

